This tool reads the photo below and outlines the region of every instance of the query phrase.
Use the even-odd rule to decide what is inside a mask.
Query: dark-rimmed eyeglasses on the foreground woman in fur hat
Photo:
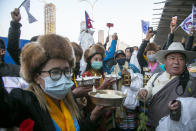
[[[50,69],[49,71],[41,71],[40,73],[42,72],[49,73],[50,78],[54,81],[58,81],[59,79],[61,79],[62,74],[64,74],[65,77],[67,77],[68,79],[71,79],[72,77],[72,69],[70,68],[65,68],[65,69],[53,68],[53,69]]]

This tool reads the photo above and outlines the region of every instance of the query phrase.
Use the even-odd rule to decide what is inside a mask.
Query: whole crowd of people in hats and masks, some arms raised
[[[21,49],[20,11],[15,9],[11,16],[7,51],[16,64],[4,62],[5,43],[0,39],[0,130],[169,131],[172,124],[166,128],[166,120],[180,123],[182,130],[196,130],[196,118],[182,121],[186,115],[182,110],[196,114],[191,109],[196,107],[186,106],[189,100],[196,101],[196,76],[188,70],[190,64],[196,66],[194,28],[187,42],[174,42],[176,24],[171,23],[163,45],[150,42],[155,34],[149,28],[139,48],[125,50],[116,49],[116,33],[108,49],[108,37],[83,50],[57,34],[33,36]],[[81,60],[86,63],[83,72]],[[80,87],[78,76],[100,80],[94,87]],[[9,84],[6,77],[17,77],[18,85]],[[8,91],[9,86],[18,88]],[[126,98],[120,107],[95,105],[88,95],[93,88],[122,91]],[[143,129],[141,113],[148,118]]]

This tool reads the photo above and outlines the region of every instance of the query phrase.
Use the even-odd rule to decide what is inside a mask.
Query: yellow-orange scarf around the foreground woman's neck
[[[46,96],[46,100],[50,108],[50,116],[59,126],[61,131],[75,131],[74,121],[72,119],[71,113],[65,106],[63,100],[60,100],[61,110],[54,104],[54,102],[48,96]]]

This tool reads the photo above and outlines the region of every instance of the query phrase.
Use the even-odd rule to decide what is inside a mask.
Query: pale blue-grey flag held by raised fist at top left
[[[36,22],[37,20],[35,19],[35,17],[33,17],[33,15],[30,13],[30,0],[25,0],[23,3],[22,3],[22,6],[25,8],[26,12],[27,12],[27,15],[28,15],[28,20],[29,20],[29,23],[33,23],[33,22]]]

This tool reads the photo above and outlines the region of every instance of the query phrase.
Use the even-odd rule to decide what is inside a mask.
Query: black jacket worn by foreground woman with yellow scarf
[[[23,89],[13,89],[10,94],[3,88],[0,78],[0,127],[9,128],[20,126],[30,118],[34,121],[34,131],[56,131],[50,114],[43,110],[34,93]],[[79,121],[81,131],[93,131],[98,123],[89,118]]]

